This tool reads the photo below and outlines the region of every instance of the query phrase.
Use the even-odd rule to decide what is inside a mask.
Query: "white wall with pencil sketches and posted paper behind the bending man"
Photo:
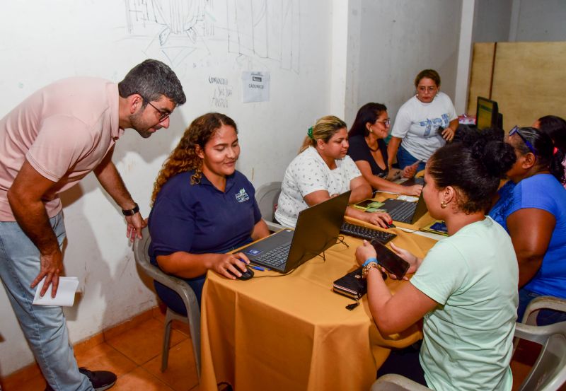
[[[144,21],[141,13],[134,12],[140,10],[128,8],[151,3],[4,2],[0,116],[59,78],[100,76],[117,82],[143,59],[160,59],[178,74],[187,103],[175,110],[171,127],[151,139],[127,130],[114,158],[142,214],[149,214],[151,188],[164,159],[190,121],[204,112],[221,111],[236,120],[242,146],[238,169],[256,187],[281,180],[308,126],[329,113],[331,7],[325,0],[192,2],[207,4],[200,13],[204,22],[185,33],[182,30],[194,10],[173,13],[175,20],[152,11]],[[171,3],[154,1],[163,7]],[[269,102],[241,103],[244,70],[270,71]],[[209,76],[229,80],[231,95],[221,107],[215,105],[219,89],[209,83]],[[62,198],[68,234],[66,272],[79,276],[83,292],[74,308],[66,311],[74,343],[150,308],[156,300],[137,273],[120,210],[96,178],[89,175]],[[4,289],[0,289],[0,313],[0,375],[5,376],[33,357]]]

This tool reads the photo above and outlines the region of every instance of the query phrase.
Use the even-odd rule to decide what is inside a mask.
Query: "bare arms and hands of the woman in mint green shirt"
[[[396,247],[399,254],[400,250],[402,249]],[[410,255],[408,259],[405,259],[410,263],[410,270],[415,271],[422,262],[422,259],[405,250],[403,250],[403,255]],[[356,250],[356,258],[359,263],[375,256],[376,252],[373,246],[366,241]],[[381,277],[381,272],[376,268],[369,269],[367,294],[371,316],[374,317],[379,332],[385,335],[402,332],[438,305],[436,301],[409,282],[403,284],[399,291],[395,293],[395,296],[391,295],[391,291]]]

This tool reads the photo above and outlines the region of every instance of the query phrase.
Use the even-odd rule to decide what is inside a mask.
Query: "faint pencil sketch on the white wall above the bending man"
[[[300,0],[126,0],[128,37],[173,65],[263,66],[299,74]]]

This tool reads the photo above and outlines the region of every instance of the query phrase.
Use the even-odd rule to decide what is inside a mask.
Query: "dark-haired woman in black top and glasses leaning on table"
[[[348,132],[348,155],[374,189],[419,196],[422,185],[402,186],[387,180],[388,156],[383,139],[389,133],[389,122],[385,105],[366,103],[360,107]]]

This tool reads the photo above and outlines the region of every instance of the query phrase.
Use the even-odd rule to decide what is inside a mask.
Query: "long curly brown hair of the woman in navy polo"
[[[179,144],[173,149],[171,155],[163,163],[154,183],[154,192],[151,194],[151,204],[153,205],[157,194],[166,182],[185,171],[195,170],[191,175],[192,185],[200,183],[202,177],[202,159],[197,156],[197,146],[204,150],[204,145],[214,136],[216,130],[222,125],[233,127],[238,132],[236,122],[227,115],[219,112],[209,112],[197,117],[191,122],[181,137]]]

